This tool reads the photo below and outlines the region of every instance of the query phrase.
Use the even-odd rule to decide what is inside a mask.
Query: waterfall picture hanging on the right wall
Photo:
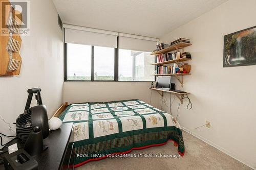
[[[256,65],[256,26],[224,36],[223,67]]]

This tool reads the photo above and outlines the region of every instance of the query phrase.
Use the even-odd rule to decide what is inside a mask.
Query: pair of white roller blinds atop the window
[[[152,52],[156,49],[159,39],[113,31],[99,30],[87,27],[64,24],[65,42],[85,45],[105,46],[117,48],[117,36],[119,36],[119,48],[125,50]]]

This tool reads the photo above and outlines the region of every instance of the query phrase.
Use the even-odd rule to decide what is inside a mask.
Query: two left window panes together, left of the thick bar
[[[67,81],[114,81],[115,48],[73,43],[66,48]]]

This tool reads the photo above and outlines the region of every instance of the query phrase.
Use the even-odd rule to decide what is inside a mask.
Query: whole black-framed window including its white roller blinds
[[[155,81],[158,39],[65,25],[65,81]],[[88,45],[82,45],[88,44]]]

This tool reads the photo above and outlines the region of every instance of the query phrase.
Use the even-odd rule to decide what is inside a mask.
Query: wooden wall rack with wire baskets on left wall
[[[22,58],[19,55],[22,44],[22,39],[19,36],[22,15],[16,16],[17,12],[10,2],[0,0],[0,3],[1,5],[6,3],[6,7],[1,13],[8,16],[6,24],[0,28],[0,33],[4,32],[4,35],[0,35],[0,76],[19,75],[22,66]],[[2,21],[5,21],[5,15],[2,16]]]

